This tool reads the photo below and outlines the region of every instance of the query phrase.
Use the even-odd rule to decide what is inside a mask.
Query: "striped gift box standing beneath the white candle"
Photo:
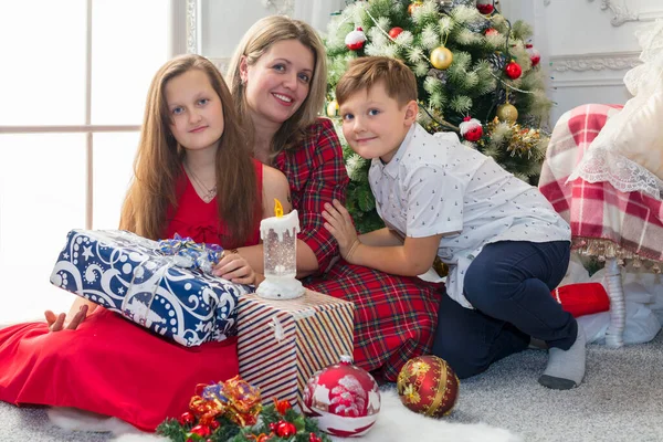
[[[354,305],[306,291],[296,299],[240,298],[240,375],[272,398],[299,403],[311,376],[352,355]]]

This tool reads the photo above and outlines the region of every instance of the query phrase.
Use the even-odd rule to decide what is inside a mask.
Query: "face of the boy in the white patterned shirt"
[[[340,105],[343,134],[360,157],[389,162],[417,119],[417,102],[399,106],[382,83],[357,91]]]

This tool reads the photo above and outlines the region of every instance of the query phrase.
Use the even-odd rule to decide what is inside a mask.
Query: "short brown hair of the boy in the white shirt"
[[[336,85],[336,101],[343,104],[350,95],[370,90],[382,82],[387,95],[404,106],[417,101],[417,78],[400,60],[389,56],[361,56],[350,62]]]

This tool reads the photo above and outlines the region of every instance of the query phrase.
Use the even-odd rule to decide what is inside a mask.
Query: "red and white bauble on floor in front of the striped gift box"
[[[304,388],[302,410],[325,433],[349,438],[366,434],[380,412],[378,383],[348,356],[313,375]]]

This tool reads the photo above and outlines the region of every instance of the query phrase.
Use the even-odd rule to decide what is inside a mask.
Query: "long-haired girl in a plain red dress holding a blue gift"
[[[223,78],[202,56],[173,59],[157,72],[122,229],[231,250],[259,242],[274,198],[290,210],[285,176],[250,158],[230,103]],[[236,253],[215,271],[243,284],[260,277]],[[83,298],[69,315],[45,316],[46,323],[0,330],[0,400],[74,407],[154,431],[188,409],[198,383],[239,371],[236,338],[186,348]]]

